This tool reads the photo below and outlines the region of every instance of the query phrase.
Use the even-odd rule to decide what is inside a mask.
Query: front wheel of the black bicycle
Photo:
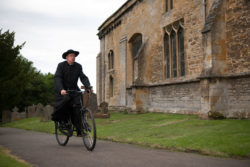
[[[94,116],[88,108],[82,112],[82,138],[87,150],[93,151],[96,145],[96,125]]]

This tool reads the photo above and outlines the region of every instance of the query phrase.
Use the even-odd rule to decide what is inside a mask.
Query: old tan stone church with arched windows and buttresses
[[[249,0],[128,0],[98,31],[98,104],[250,118]]]

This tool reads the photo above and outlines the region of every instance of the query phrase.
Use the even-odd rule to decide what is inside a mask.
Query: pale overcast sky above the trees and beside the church
[[[64,51],[80,51],[76,61],[95,88],[97,29],[126,1],[1,0],[0,29],[16,33],[15,45],[26,42],[21,54],[42,73],[55,73]]]

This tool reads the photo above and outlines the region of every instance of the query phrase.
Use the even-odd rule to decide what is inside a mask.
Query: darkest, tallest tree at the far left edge
[[[20,56],[24,46],[14,46],[14,32],[0,30],[0,111],[14,107],[20,101],[32,63]]]

